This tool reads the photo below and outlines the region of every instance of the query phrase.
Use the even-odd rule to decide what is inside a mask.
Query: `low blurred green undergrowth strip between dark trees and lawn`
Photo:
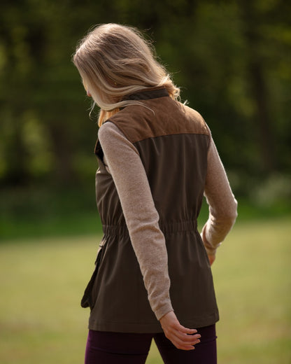
[[[92,184],[93,185],[93,184]],[[290,184],[283,176],[269,179],[252,190],[252,200],[239,199],[238,221],[291,216]],[[206,200],[198,218],[201,228],[208,218]],[[90,188],[5,190],[0,204],[0,244],[3,241],[97,235],[102,231]]]

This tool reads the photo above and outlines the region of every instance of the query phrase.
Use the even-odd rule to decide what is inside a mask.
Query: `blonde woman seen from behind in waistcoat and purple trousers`
[[[101,109],[95,153],[104,237],[82,300],[85,363],[216,363],[211,264],[236,200],[204,119],[134,28],[99,25],[73,56]],[[197,231],[203,195],[210,206]],[[195,349],[195,350],[193,350]]]

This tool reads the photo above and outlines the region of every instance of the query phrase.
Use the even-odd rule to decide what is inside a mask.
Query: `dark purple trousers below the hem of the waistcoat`
[[[176,349],[164,333],[134,334],[89,330],[85,364],[144,364],[152,339],[166,364],[216,364],[215,325],[197,328],[201,342],[194,350]]]

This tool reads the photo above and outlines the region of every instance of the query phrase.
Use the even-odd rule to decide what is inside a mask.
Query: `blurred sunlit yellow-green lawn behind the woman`
[[[213,265],[221,364],[291,363],[290,218],[237,223]],[[99,237],[0,245],[0,363],[80,364]],[[147,364],[162,363],[152,346]]]

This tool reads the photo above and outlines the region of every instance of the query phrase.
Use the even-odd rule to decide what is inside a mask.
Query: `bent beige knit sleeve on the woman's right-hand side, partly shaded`
[[[208,148],[204,195],[209,205],[209,216],[202,229],[201,238],[208,255],[215,255],[216,249],[236,221],[237,202],[212,138]]]

